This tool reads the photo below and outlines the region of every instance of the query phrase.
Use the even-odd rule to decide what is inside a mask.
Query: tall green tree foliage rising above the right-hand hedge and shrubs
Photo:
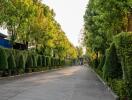
[[[126,31],[131,4],[130,0],[89,0],[84,15],[84,44],[97,59],[105,55],[115,35]]]

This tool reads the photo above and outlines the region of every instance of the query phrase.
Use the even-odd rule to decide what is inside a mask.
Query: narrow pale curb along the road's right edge
[[[112,90],[111,88],[107,85],[107,83],[91,68],[92,72],[94,72],[96,74],[96,76],[99,78],[99,80],[104,84],[104,86],[106,86],[106,88],[108,89],[108,91],[114,96],[115,100],[119,100],[119,96],[117,96]]]

